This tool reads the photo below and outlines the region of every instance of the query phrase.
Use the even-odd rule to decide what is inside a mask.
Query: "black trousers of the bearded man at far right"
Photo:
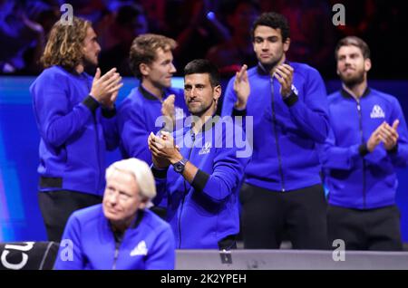
[[[330,205],[327,225],[330,243],[342,239],[346,250],[403,250],[397,206],[358,210]]]

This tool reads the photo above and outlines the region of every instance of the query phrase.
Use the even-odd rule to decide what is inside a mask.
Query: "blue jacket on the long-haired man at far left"
[[[105,150],[118,145],[115,110],[88,96],[92,77],[60,66],[45,69],[30,87],[40,132],[40,191],[102,196]]]

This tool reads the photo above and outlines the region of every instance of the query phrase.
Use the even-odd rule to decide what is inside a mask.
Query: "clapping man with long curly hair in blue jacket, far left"
[[[71,213],[102,201],[104,154],[117,146],[114,102],[121,76],[112,69],[95,77],[101,47],[92,24],[73,17],[53,25],[30,87],[40,132],[39,204],[50,241],[60,241]]]

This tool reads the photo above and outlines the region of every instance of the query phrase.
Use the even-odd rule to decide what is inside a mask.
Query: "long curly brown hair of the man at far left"
[[[53,24],[41,62],[44,68],[61,65],[72,71],[83,61],[83,41],[91,22],[73,17],[73,24]]]

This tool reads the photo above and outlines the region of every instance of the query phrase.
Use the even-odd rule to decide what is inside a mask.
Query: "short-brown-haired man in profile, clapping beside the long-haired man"
[[[151,164],[149,133],[171,131],[187,116],[183,91],[171,88],[171,78],[176,72],[172,54],[175,47],[173,39],[159,34],[142,34],[131,44],[131,71],[140,85],[131,91],[118,110],[123,158],[140,158]],[[164,217],[164,206],[165,198],[152,210]]]

